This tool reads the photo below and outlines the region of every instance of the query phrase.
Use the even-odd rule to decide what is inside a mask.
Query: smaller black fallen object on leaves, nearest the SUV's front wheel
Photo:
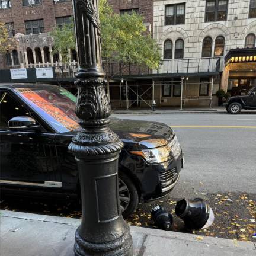
[[[172,226],[172,216],[164,207],[157,205],[151,211],[151,217],[156,226],[161,229],[169,230]]]

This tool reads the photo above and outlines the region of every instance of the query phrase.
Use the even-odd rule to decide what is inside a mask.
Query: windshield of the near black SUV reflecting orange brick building
[[[76,97],[63,88],[17,88],[15,91],[57,132],[79,128]]]

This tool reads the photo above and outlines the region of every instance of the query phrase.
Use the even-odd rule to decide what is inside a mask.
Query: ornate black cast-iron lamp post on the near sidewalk
[[[123,142],[108,127],[98,0],[73,0],[73,7],[81,66],[75,82],[76,115],[82,127],[69,145],[78,162],[82,198],[75,255],[130,256],[132,236],[119,206],[117,165]]]

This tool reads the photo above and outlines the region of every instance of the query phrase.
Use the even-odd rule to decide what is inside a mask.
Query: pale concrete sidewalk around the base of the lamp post
[[[73,256],[78,219],[0,211],[1,256]],[[255,256],[253,242],[130,226],[134,256]]]

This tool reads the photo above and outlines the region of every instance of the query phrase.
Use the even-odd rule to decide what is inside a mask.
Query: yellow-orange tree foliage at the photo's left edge
[[[7,27],[0,23],[0,53],[7,53],[17,47],[17,40],[10,38]]]

